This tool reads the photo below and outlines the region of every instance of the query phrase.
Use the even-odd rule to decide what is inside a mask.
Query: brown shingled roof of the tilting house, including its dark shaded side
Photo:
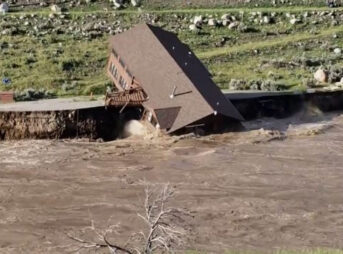
[[[144,106],[155,112],[158,109],[160,119],[165,119],[161,112],[173,116],[170,121],[164,120],[169,132],[215,113],[243,119],[204,65],[175,34],[141,24],[113,36],[110,46],[148,95]],[[178,110],[170,112],[175,108]]]

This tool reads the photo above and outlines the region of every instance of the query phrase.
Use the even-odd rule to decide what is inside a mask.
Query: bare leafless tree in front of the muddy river
[[[96,240],[90,241],[67,234],[78,243],[73,252],[82,249],[107,248],[111,254],[152,254],[159,252],[173,252],[184,244],[187,235],[186,224],[190,214],[182,209],[173,208],[169,201],[175,191],[169,184],[149,184],[145,186],[144,214],[138,214],[146,227],[139,233],[133,234],[124,246],[111,243],[108,235],[118,234],[119,224],[109,225],[105,230],[95,227],[94,221],[83,231],[90,231]]]

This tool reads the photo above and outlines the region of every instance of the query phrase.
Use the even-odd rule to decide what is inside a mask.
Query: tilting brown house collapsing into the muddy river
[[[243,120],[194,53],[175,34],[148,24],[110,39],[107,106],[142,105],[144,119],[174,133]]]

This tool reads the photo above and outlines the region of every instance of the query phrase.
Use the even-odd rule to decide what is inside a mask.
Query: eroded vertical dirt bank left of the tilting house
[[[119,116],[104,108],[0,112],[0,140],[90,138],[115,139]]]

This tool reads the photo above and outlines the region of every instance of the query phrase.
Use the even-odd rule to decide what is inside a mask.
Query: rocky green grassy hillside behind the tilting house
[[[323,1],[189,1],[187,8],[185,1],[164,2],[170,8],[146,1],[141,9],[123,10],[108,2],[67,4],[62,14],[48,7],[12,9],[0,16],[0,75],[11,81],[0,89],[102,94],[110,85],[104,71],[109,36],[141,22],[177,33],[221,88],[302,90],[321,66],[336,75],[333,83],[343,72],[337,53],[343,48],[343,9],[328,9]],[[208,25],[211,19],[222,22],[224,14],[232,27]],[[201,29],[190,31],[200,15]]]

